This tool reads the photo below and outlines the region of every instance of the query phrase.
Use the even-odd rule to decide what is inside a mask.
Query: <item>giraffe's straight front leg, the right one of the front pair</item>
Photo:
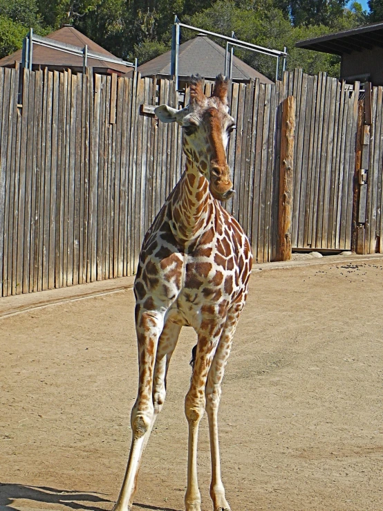
[[[189,424],[189,441],[187,456],[187,490],[185,494],[186,511],[200,511],[200,491],[197,479],[197,443],[200,419],[205,412],[205,385],[207,374],[212,364],[216,346],[221,335],[222,326],[213,319],[202,322],[208,326],[209,333],[200,331],[196,350],[196,360],[190,389],[185,398],[185,415]],[[211,332],[214,332],[212,335]]]

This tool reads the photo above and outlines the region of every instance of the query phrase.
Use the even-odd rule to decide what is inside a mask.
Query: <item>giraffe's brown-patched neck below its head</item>
[[[200,236],[211,219],[213,201],[209,181],[187,158],[185,173],[171,197],[173,234],[184,243]]]

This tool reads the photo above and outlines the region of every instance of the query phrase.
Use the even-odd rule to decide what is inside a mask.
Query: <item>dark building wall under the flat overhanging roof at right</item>
[[[369,75],[367,78],[360,77],[360,81],[371,81],[373,85],[383,85],[383,48],[372,50],[353,51],[349,55],[342,55],[340,77],[348,81],[359,80],[359,75]]]

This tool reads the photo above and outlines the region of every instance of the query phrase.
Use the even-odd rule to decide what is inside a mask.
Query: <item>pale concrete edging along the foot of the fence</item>
[[[383,260],[383,254],[351,255],[351,256],[324,256],[315,259],[299,259],[298,261],[275,261],[272,263],[254,263],[252,273],[267,270],[283,270],[289,268],[302,268],[305,266],[323,266],[328,264],[363,263],[365,261]],[[134,276],[118,277],[78,284],[67,288],[50,289],[28,293],[26,295],[12,295],[0,298],[0,319],[13,315],[26,313],[30,310],[52,307],[66,301],[77,301],[109,295],[133,289]]]

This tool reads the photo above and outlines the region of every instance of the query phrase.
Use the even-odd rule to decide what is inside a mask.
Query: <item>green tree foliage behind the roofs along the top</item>
[[[28,28],[47,33],[63,24],[139,64],[170,48],[174,16],[187,24],[231,35],[267,48],[288,48],[288,69],[339,73],[339,57],[295,48],[301,39],[319,37],[383,19],[383,0],[369,0],[371,15],[347,0],[0,0],[0,52],[21,46]],[[182,31],[183,41],[195,32]],[[225,44],[217,40],[218,44]],[[235,54],[274,77],[275,59],[236,49]]]

